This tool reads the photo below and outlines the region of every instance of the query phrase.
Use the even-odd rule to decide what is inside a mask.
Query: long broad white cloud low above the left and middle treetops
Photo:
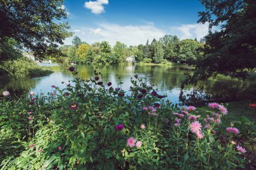
[[[152,25],[142,25],[142,26],[120,26],[119,24],[109,24],[101,23],[98,27],[84,27],[79,28],[81,32],[75,32],[75,36],[79,36],[83,41],[92,44],[94,42],[108,41],[111,46],[115,45],[115,42],[120,41],[127,46],[146,44],[149,39],[150,42],[153,38],[159,39],[166,32],[156,28]],[[71,44],[71,40],[65,40],[65,43]]]

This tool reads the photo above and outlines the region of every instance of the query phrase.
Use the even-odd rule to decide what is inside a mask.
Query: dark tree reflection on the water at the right
[[[200,81],[188,95],[180,94],[180,101],[186,105],[204,105],[205,101],[228,102],[255,99],[256,83],[238,79],[217,79]]]

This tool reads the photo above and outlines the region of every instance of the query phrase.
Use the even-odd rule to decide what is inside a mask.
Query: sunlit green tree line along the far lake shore
[[[78,64],[120,64],[128,56],[134,56],[136,62],[144,63],[182,63],[193,65],[195,60],[202,55],[203,43],[192,39],[180,40],[177,36],[165,35],[152,42],[138,46],[127,46],[117,41],[113,48],[107,41],[88,44],[78,36],[72,40],[72,45],[64,45],[59,49],[68,62]]]

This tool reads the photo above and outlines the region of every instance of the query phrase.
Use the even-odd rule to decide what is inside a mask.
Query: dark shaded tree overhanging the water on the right
[[[256,1],[255,0],[201,0],[205,11],[199,12],[199,23],[209,23],[205,36],[204,55],[197,60],[196,71],[185,83],[218,74],[247,77],[256,68]],[[213,32],[213,26],[219,26]]]

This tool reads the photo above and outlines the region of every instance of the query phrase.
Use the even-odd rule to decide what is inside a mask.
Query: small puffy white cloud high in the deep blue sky
[[[92,13],[100,14],[104,12],[104,6],[108,5],[108,0],[96,0],[96,1],[88,1],[84,3],[84,7],[91,9]]]

